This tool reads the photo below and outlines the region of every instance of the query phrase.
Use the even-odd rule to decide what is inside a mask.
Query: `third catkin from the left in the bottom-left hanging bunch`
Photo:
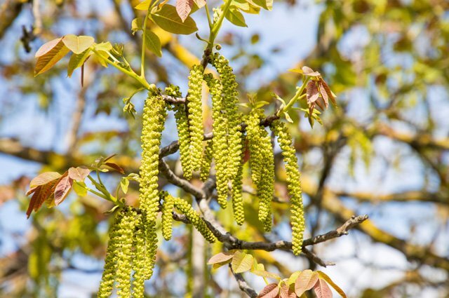
[[[145,292],[145,255],[147,254],[145,245],[145,226],[143,226],[142,215],[138,215],[135,218],[133,297],[143,298]]]

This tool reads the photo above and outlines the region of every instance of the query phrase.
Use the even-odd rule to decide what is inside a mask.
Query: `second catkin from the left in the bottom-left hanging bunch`
[[[135,219],[133,211],[128,208],[123,209],[124,215],[119,224],[120,249],[116,250],[117,260],[117,295],[119,297],[131,297],[131,271],[133,270],[133,236],[135,229]]]

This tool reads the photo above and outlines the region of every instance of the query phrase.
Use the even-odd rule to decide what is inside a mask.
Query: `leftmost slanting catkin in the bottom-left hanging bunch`
[[[100,289],[98,290],[98,298],[107,298],[112,294],[114,288],[114,280],[116,273],[116,250],[119,248],[119,224],[123,217],[123,213],[119,212],[114,219],[114,223],[109,230],[109,242],[107,243],[105,269],[102,273]]]

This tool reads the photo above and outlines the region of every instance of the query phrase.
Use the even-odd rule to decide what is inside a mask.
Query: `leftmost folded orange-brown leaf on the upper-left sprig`
[[[56,62],[62,59],[67,53],[69,48],[62,42],[63,37],[60,39],[53,39],[48,43],[43,44],[36,52],[36,66],[34,67],[34,76],[46,72],[51,69]]]

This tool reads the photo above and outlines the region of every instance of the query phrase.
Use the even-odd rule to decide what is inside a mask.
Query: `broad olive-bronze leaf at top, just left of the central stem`
[[[174,34],[192,34],[198,30],[195,21],[187,17],[182,22],[175,6],[164,5],[159,11],[152,13],[152,20],[166,32]]]

